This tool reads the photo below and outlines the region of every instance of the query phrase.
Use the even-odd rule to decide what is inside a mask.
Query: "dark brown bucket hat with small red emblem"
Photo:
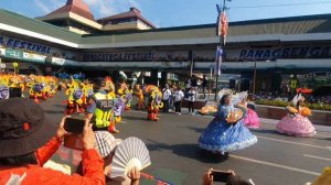
[[[57,126],[33,100],[0,101],[0,157],[29,154],[55,135]]]

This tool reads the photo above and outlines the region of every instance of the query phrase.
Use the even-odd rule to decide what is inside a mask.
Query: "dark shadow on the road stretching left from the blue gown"
[[[152,144],[147,144],[149,151],[163,151],[169,150],[172,153],[193,159],[203,163],[220,163],[228,159],[227,155],[214,154],[209,151],[202,150],[197,144],[164,144],[153,142]]]

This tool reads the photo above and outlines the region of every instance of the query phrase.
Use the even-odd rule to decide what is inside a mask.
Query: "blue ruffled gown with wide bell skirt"
[[[199,139],[200,148],[225,153],[245,149],[257,142],[257,138],[244,126],[243,119],[236,124],[227,123],[226,117],[234,109],[232,105],[218,107],[215,118]]]

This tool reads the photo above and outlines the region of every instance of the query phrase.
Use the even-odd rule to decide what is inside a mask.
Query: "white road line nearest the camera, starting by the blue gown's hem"
[[[305,173],[305,174],[309,174],[309,175],[316,175],[316,176],[320,175],[319,172],[312,172],[312,171],[307,171],[307,170],[302,170],[302,168],[291,167],[291,166],[287,166],[287,165],[280,165],[280,164],[276,164],[276,163],[270,163],[270,162],[266,162],[266,161],[254,160],[254,159],[249,159],[249,157],[245,157],[245,156],[239,156],[239,155],[234,155],[234,154],[229,154],[229,156],[234,157],[234,159],[238,159],[238,160],[244,160],[244,161],[249,161],[249,162],[253,162],[253,163],[258,163],[258,164],[264,164],[264,165],[273,166],[273,167],[285,168],[285,170],[293,171],[293,172],[300,172],[300,173]]]

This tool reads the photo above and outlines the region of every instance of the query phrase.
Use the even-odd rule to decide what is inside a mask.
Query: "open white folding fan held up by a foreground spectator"
[[[116,149],[111,162],[110,178],[124,179],[127,173],[137,167],[139,171],[151,164],[149,151],[145,143],[135,137],[124,140]]]

